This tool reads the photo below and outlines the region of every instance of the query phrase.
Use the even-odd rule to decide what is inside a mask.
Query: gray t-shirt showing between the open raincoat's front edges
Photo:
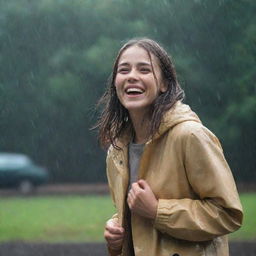
[[[138,170],[140,165],[140,158],[144,150],[145,144],[129,144],[129,171],[130,171],[130,183],[129,189],[133,182],[138,179]]]

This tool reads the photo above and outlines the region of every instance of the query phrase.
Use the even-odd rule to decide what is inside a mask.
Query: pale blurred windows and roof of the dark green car
[[[32,164],[32,161],[25,155],[0,154],[0,168],[22,167],[30,164]]]

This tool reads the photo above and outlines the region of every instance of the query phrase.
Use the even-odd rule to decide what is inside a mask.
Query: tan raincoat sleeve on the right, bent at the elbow
[[[237,230],[242,206],[218,139],[203,127],[189,132],[184,167],[195,199],[159,199],[154,226],[188,241],[207,241]]]

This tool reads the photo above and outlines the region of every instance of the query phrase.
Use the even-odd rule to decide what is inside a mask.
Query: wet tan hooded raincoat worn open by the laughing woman
[[[127,187],[129,137],[107,155],[107,177],[126,230],[122,256],[128,248]],[[218,139],[202,125],[189,106],[177,102],[159,133],[145,144],[138,179],[148,182],[159,200],[154,221],[133,214],[136,256],[228,256],[226,234],[242,223],[242,207]],[[110,251],[110,255],[119,255]]]

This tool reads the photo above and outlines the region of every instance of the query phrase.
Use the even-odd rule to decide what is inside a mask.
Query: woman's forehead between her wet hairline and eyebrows
[[[150,57],[153,65],[157,65],[158,61],[155,55],[148,53],[144,48],[134,45],[124,50],[119,58],[118,65],[125,63],[133,64],[138,62],[145,62],[151,65]]]

